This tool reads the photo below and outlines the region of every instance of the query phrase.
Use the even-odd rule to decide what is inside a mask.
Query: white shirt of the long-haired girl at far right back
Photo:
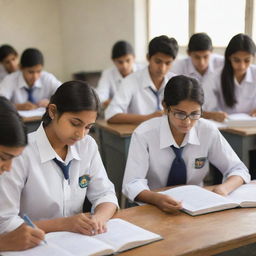
[[[243,81],[239,84],[235,81],[235,97],[237,103],[232,107],[228,107],[224,101],[221,88],[221,72],[219,70],[206,83],[205,103],[203,109],[205,111],[224,111],[228,114],[247,113],[256,109],[256,66],[251,65],[247,69]]]

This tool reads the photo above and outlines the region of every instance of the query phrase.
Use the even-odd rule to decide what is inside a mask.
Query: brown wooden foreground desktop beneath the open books
[[[154,206],[145,205],[121,210],[114,217],[130,221],[164,238],[123,252],[122,256],[208,256],[256,242],[255,208],[192,217],[178,211],[164,213]]]

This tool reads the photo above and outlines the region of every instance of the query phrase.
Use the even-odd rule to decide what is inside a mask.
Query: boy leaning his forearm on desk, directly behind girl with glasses
[[[110,123],[140,123],[162,115],[164,87],[173,73],[168,73],[176,58],[178,44],[174,38],[159,36],[148,47],[148,66],[123,80],[105,111]]]

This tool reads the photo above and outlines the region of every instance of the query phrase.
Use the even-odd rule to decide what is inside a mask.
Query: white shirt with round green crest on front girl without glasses
[[[0,233],[21,225],[23,220],[19,216],[24,213],[32,220],[81,213],[85,196],[93,209],[103,202],[118,206],[114,186],[107,177],[92,137],[87,135],[68,148],[64,162],[72,160],[68,181],[52,160],[55,157],[62,161],[41,125],[29,134],[29,145],[14,159],[12,170],[0,176]],[[85,188],[79,185],[83,175],[91,179]]]

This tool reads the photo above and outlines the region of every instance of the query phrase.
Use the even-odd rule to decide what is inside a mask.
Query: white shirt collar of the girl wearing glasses
[[[197,135],[197,124],[191,128],[191,130],[186,134],[181,147],[184,147],[186,144],[200,145],[200,141]],[[179,147],[173,138],[169,122],[168,116],[164,115],[160,121],[160,149],[168,148],[174,145],[175,147]]]

